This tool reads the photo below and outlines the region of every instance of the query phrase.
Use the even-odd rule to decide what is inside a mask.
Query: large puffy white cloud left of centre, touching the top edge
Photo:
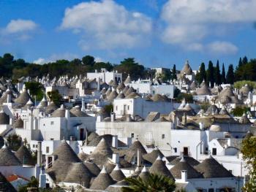
[[[151,18],[129,12],[112,0],[90,1],[65,10],[61,29],[80,34],[80,47],[88,50],[132,48],[145,45],[151,34]]]

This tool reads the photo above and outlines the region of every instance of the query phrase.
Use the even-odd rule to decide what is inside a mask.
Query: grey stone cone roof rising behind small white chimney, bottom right
[[[203,175],[200,174],[200,172],[197,172],[196,169],[194,169],[189,163],[187,163],[184,158],[181,158],[181,161],[178,162],[175,166],[173,166],[172,169],[170,169],[171,174],[173,174],[173,177],[176,179],[181,179],[181,171],[187,170],[187,178],[203,178]]]

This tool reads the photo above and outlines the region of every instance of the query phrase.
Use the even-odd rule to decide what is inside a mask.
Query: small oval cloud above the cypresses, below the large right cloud
[[[210,53],[231,55],[238,52],[238,47],[230,42],[211,42],[207,45]]]

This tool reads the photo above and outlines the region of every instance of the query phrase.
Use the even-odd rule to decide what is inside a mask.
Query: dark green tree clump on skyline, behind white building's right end
[[[114,67],[114,70],[123,73],[123,80],[125,80],[129,74],[132,80],[138,80],[143,77],[144,66],[135,62],[135,58],[124,58],[121,64]]]

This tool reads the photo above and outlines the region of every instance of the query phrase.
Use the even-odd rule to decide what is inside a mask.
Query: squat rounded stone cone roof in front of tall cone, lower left
[[[93,174],[83,163],[73,163],[64,182],[78,183],[89,188],[91,177],[93,177]]]

